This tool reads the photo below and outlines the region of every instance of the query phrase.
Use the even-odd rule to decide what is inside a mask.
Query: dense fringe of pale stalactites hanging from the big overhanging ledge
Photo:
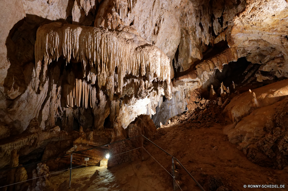
[[[122,94],[123,78],[127,74],[132,74],[135,77],[145,76],[148,83],[153,80],[166,81],[165,93],[168,99],[171,98],[169,58],[163,51],[137,35],[127,32],[108,32],[99,28],[59,22],[39,27],[35,43],[37,78],[39,78],[43,59],[43,70],[47,70],[45,67],[47,68],[52,60],[58,59],[61,55],[66,59],[67,64],[71,57],[81,60],[82,69],[85,72],[87,64],[90,64],[91,68],[95,64],[98,70],[97,74],[93,74],[93,81],[98,81],[99,89],[106,84],[110,99],[113,98],[114,93],[115,67],[118,70],[120,95]],[[83,76],[85,77],[86,73]],[[92,75],[89,74],[89,76]],[[45,79],[46,77],[43,77],[42,82]],[[69,77],[69,85],[71,86],[65,87],[65,91],[68,91],[66,95],[69,94],[67,105],[72,107],[75,103],[79,107],[81,99],[84,98],[82,104],[87,107],[87,96],[89,96],[87,82],[76,79],[74,85],[71,80],[72,77]],[[73,101],[72,98],[75,100]]]

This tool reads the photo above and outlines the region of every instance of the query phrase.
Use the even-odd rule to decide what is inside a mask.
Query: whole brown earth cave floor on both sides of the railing
[[[225,120],[224,120],[225,121]],[[229,190],[246,190],[248,184],[285,184],[286,188],[250,188],[251,190],[288,190],[287,172],[252,163],[228,141],[223,128],[229,122],[215,124],[210,128],[194,128],[189,123],[157,130],[152,141],[176,157],[199,182],[210,175],[220,177]],[[144,148],[169,172],[172,159],[159,148],[144,142]],[[107,167],[87,167],[73,169],[70,190],[173,190],[171,176],[149,154],[144,153],[144,161]],[[177,168],[177,166],[176,166]],[[96,169],[99,175],[93,175]],[[176,180],[182,190],[200,190],[196,183],[181,167]],[[56,190],[68,190],[69,172],[51,177]],[[180,189],[179,189],[180,190]],[[208,190],[207,190],[208,191]]]

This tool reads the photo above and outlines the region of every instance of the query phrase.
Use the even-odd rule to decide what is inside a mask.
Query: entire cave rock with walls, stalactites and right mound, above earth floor
[[[0,5],[1,168],[140,134],[153,137],[160,124],[208,99],[225,107],[234,124],[224,132],[251,161],[288,165],[286,0],[2,0]],[[237,70],[245,79],[224,81]],[[139,145],[129,140],[74,154],[73,164],[90,157],[91,165],[99,165],[109,150],[117,154]],[[117,155],[108,166],[138,154]],[[69,161],[46,165],[57,170]],[[18,176],[6,177],[9,182],[27,179],[19,169]]]

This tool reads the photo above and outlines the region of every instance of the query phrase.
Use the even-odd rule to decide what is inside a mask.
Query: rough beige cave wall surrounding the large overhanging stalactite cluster
[[[223,65],[241,57],[261,65],[256,72],[259,82],[288,77],[285,0],[5,0],[0,4],[1,18],[5,18],[0,21],[3,138],[22,133],[35,117],[42,130],[60,126],[71,131],[80,125],[103,129],[107,117],[112,127],[118,117],[126,128],[140,114],[153,116],[160,126],[187,110],[193,90],[213,84],[216,69],[222,72]],[[72,68],[83,72],[82,63],[72,58],[69,66],[63,57],[53,59],[46,80],[37,71],[37,66],[44,65],[35,63],[37,30],[52,22],[140,36],[170,59],[171,81],[149,79],[137,84],[138,79],[128,75],[123,78],[126,97],[111,99],[105,86],[97,90],[95,107],[71,106],[64,87],[69,75],[77,73]],[[169,88],[171,95],[167,96]]]

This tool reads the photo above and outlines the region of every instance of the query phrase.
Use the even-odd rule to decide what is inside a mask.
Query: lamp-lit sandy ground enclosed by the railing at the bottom
[[[148,190],[172,190],[168,173],[157,175],[150,160],[142,162],[141,159],[129,164],[122,164],[111,169],[107,167],[87,167],[72,169],[71,189],[69,189],[69,171],[51,177],[52,189],[75,191],[148,191]],[[154,162],[154,161],[152,161]],[[98,170],[98,173],[95,171]],[[98,175],[97,175],[98,174]],[[168,183],[168,186],[165,185]]]

